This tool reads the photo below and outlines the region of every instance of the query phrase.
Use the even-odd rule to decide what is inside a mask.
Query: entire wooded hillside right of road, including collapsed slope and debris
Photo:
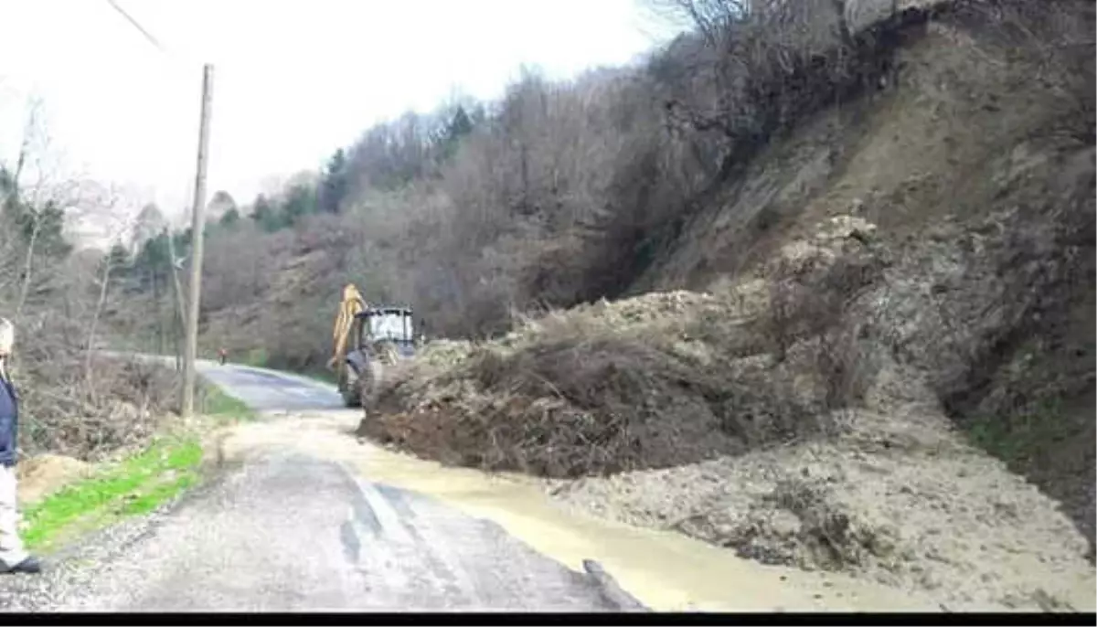
[[[335,210],[212,233],[204,342],[315,367],[353,281],[450,338],[364,435],[950,607],[1094,607],[1097,10],[778,4],[370,130]]]

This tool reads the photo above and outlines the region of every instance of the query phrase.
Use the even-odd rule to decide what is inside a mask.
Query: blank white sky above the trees
[[[0,0],[0,159],[39,95],[68,168],[189,202],[203,62],[215,65],[207,198],[248,202],[372,123],[454,89],[494,98],[538,65],[567,77],[656,41],[636,0]]]

